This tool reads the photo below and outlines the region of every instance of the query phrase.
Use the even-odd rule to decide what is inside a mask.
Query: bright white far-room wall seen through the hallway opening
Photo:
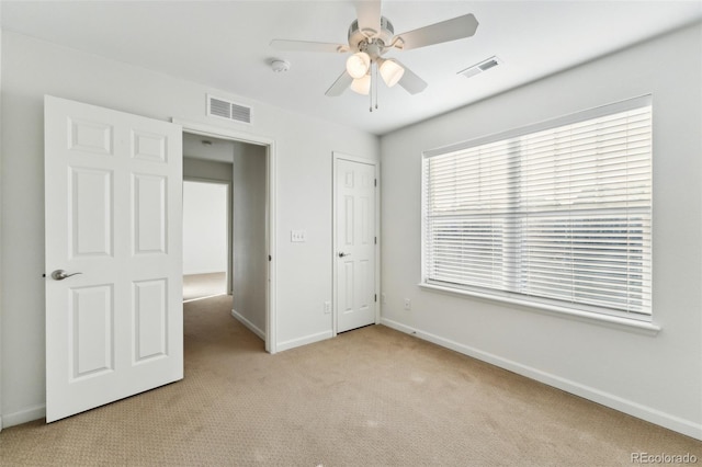
[[[227,271],[227,185],[183,183],[183,274]]]

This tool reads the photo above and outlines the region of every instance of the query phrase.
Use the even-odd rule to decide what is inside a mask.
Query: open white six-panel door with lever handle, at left
[[[46,96],[45,193],[47,422],[182,379],[181,127]]]

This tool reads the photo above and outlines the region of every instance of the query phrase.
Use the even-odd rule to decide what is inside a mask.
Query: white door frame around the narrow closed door
[[[375,238],[377,239],[377,242],[375,243],[375,250],[374,250],[374,254],[375,254],[375,293],[377,295],[380,295],[377,297],[377,299],[375,300],[375,323],[380,324],[381,323],[381,303],[382,300],[382,296],[383,294],[381,293],[381,163],[376,160],[371,160],[371,159],[364,159],[362,157],[358,157],[358,156],[350,156],[343,152],[338,152],[338,151],[332,151],[332,159],[333,159],[333,170],[332,170],[332,183],[331,183],[331,206],[332,206],[332,226],[331,226],[331,243],[332,243],[332,250],[331,250],[331,283],[332,283],[332,288],[331,288],[331,316],[332,316],[332,326],[331,326],[331,335],[332,337],[337,337],[337,329],[338,329],[338,312],[339,312],[339,307],[337,305],[337,298],[339,297],[339,285],[338,285],[338,281],[339,281],[339,272],[338,272],[338,267],[337,267],[337,252],[339,251],[339,246],[337,244],[337,224],[338,224],[338,216],[339,216],[339,209],[337,208],[337,201],[338,201],[338,194],[337,194],[337,189],[338,189],[338,182],[337,182],[337,175],[338,175],[338,171],[339,171],[339,160],[346,160],[346,161],[350,161],[350,162],[358,162],[358,163],[364,163],[367,166],[373,166],[374,171],[375,171],[375,180],[376,180],[376,185],[375,185]]]

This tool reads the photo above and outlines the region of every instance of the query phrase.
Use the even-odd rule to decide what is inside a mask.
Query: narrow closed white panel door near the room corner
[[[337,159],[337,332],[376,321],[375,166]]]

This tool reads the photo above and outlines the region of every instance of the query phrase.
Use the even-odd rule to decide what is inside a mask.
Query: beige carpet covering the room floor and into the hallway
[[[372,326],[269,355],[185,304],[185,379],[0,433],[2,466],[627,466],[702,443]]]

